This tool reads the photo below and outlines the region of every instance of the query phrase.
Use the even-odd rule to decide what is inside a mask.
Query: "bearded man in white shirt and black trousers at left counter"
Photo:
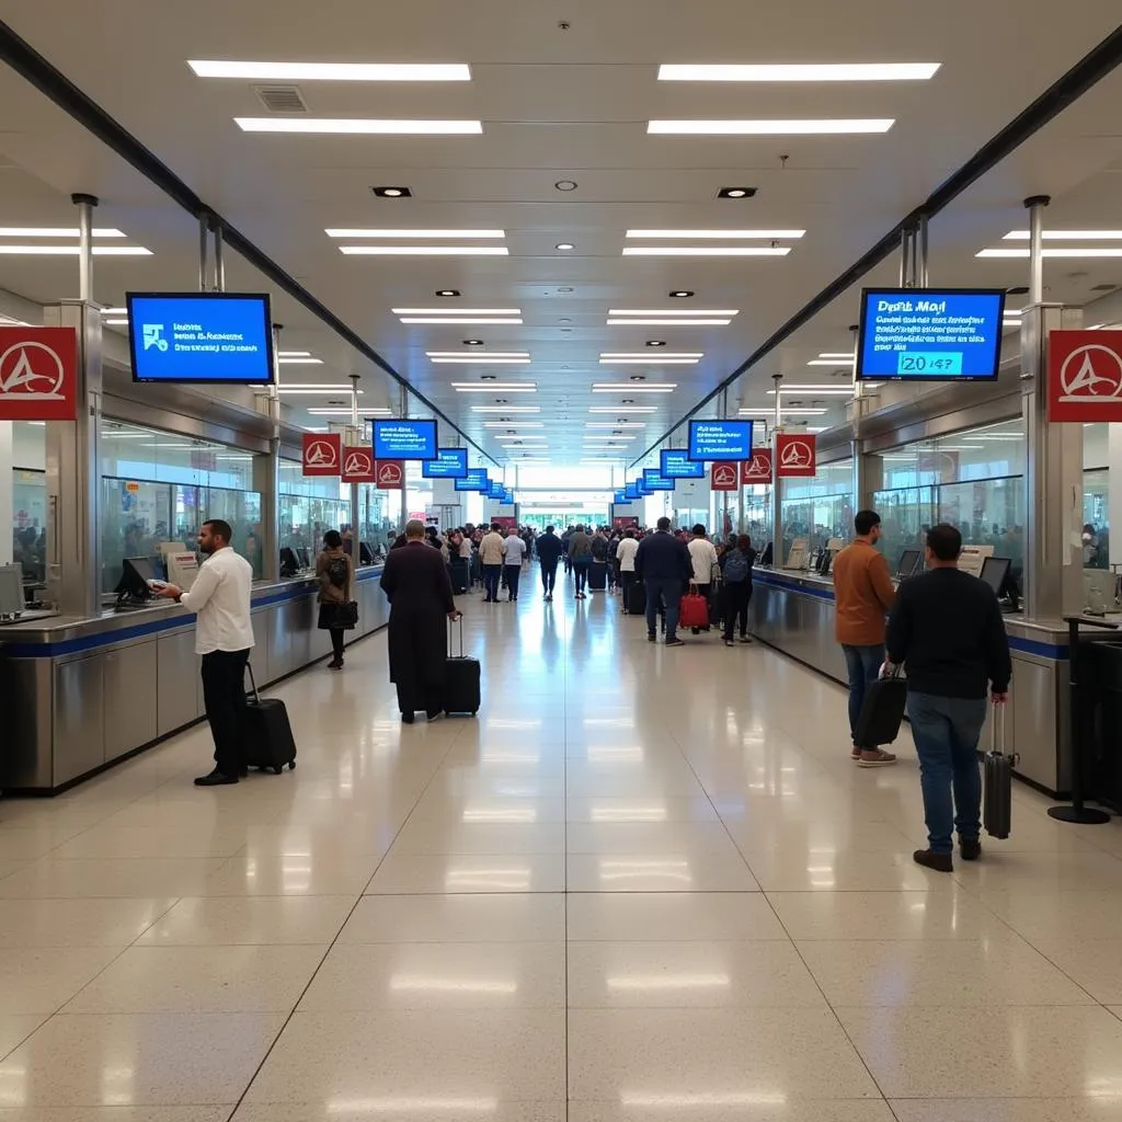
[[[212,518],[199,531],[199,549],[206,560],[191,591],[164,585],[156,591],[195,613],[195,654],[203,656],[203,702],[214,738],[214,770],[195,780],[196,787],[237,783],[245,774],[246,663],[254,646],[249,618],[254,571],[230,548],[233,531]]]

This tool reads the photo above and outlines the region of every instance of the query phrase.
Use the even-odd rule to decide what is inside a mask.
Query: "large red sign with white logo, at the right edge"
[[[1049,333],[1048,420],[1122,421],[1122,331]]]

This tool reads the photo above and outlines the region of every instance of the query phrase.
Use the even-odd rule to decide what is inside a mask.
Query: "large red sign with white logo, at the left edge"
[[[73,328],[0,328],[0,421],[77,416]]]

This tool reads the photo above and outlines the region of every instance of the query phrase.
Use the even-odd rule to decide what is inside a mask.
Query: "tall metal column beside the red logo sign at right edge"
[[[1024,414],[1024,614],[1060,619],[1083,608],[1083,426],[1048,423],[1048,332],[1078,327],[1082,313],[1043,303],[1046,195],[1029,210],[1029,303],[1021,318]]]

